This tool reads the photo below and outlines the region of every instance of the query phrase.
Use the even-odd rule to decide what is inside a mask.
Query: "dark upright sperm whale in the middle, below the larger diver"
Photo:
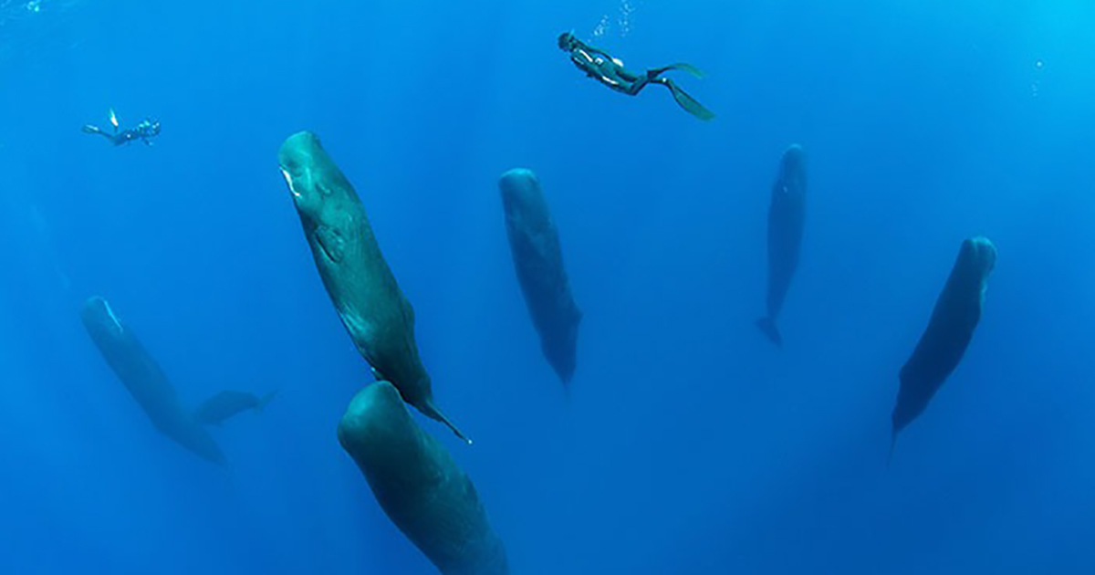
[[[581,311],[570,295],[558,231],[534,173],[510,170],[502,174],[498,187],[506,212],[506,235],[525,303],[540,334],[544,357],[558,378],[567,383],[577,364]]]

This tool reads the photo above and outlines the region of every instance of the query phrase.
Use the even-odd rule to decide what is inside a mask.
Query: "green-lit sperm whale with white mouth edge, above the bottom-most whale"
[[[278,163],[320,278],[358,353],[407,403],[469,441],[434,403],[415,342],[414,309],[380,253],[349,180],[309,131],[285,140]]]

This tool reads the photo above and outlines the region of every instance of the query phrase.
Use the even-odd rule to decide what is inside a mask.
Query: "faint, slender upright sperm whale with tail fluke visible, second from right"
[[[775,320],[798,269],[805,222],[806,152],[795,143],[783,152],[772,184],[768,210],[768,314],[757,320],[757,326],[775,345],[783,345]]]

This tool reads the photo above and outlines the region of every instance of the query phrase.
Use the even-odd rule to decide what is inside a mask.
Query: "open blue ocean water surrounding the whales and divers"
[[[335,426],[371,378],[276,152],[323,139],[417,314],[515,574],[1095,573],[1095,4],[0,0],[0,573],[436,570]],[[555,45],[688,61],[698,122]],[[146,115],[155,145],[80,133]],[[763,312],[802,143],[802,265]],[[537,171],[584,312],[540,353],[497,176]],[[892,462],[897,373],[959,243],[1000,258],[966,358]],[[158,435],[79,321],[107,297],[197,404]]]

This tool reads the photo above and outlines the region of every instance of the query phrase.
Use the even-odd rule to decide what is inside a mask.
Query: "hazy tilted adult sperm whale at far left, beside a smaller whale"
[[[132,331],[103,298],[88,299],[80,312],[88,335],[152,426],[198,457],[224,464],[224,453],[209,432],[183,409],[168,376]]]

